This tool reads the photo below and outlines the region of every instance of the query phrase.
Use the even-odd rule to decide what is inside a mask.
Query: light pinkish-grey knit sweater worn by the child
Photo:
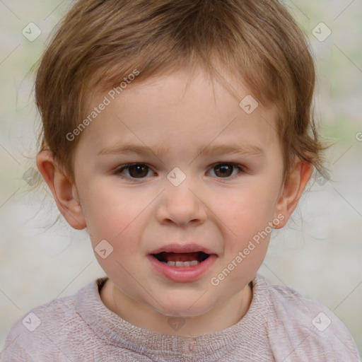
[[[105,280],[23,315],[8,333],[0,361],[360,361],[351,334],[328,308],[259,275],[240,322],[194,338],[122,320],[100,299]]]

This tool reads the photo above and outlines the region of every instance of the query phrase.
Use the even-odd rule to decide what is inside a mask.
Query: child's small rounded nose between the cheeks
[[[166,180],[165,190],[160,195],[156,217],[160,223],[175,223],[179,226],[202,224],[206,220],[206,206],[196,187],[190,185],[188,177],[175,186]]]

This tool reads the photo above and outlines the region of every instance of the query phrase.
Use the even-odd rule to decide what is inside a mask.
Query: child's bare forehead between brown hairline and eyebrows
[[[276,109],[264,107],[247,87],[223,74],[229,88],[187,69],[112,88],[88,99],[86,117],[109,103],[81,135],[98,153],[124,144],[158,146],[163,155],[173,149],[187,153],[211,146],[244,145],[256,151],[278,144]],[[230,89],[232,93],[230,93]],[[114,98],[114,99],[113,99]]]

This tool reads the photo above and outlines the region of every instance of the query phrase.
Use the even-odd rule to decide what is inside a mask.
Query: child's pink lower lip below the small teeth
[[[159,262],[156,257],[152,255],[147,256],[153,268],[166,278],[177,281],[178,283],[187,283],[199,279],[204,272],[214,264],[217,256],[210,255],[204,262],[201,262],[193,267],[171,267],[171,265]]]

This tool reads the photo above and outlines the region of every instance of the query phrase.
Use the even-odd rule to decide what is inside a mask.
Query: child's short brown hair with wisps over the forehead
[[[221,62],[251,94],[278,110],[284,179],[294,156],[320,170],[323,145],[313,119],[315,68],[305,35],[277,0],[80,0],[42,56],[35,81],[40,149],[73,180],[72,155],[90,89],[110,89],[138,69],[135,82],[202,62]],[[110,71],[112,69],[112,72]]]

